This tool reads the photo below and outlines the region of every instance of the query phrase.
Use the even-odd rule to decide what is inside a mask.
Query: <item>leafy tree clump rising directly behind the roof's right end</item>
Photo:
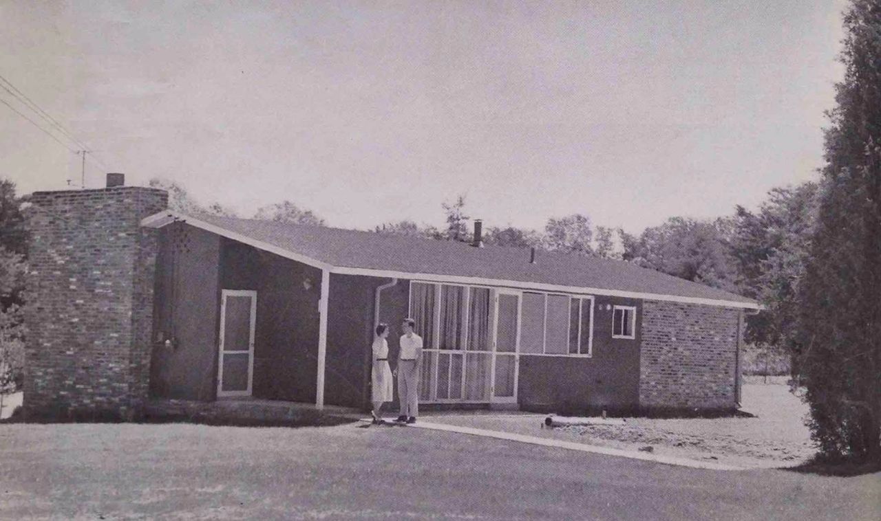
[[[737,273],[729,253],[729,219],[697,221],[670,217],[640,237],[621,232],[624,260],[695,283],[736,290]]]

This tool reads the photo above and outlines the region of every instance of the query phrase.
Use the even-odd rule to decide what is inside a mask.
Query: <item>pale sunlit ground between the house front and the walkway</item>
[[[431,421],[632,451],[651,446],[659,454],[748,468],[796,466],[811,459],[815,451],[803,422],[807,407],[787,385],[744,385],[743,400],[743,410],[753,417],[626,418],[623,426],[561,429],[544,429],[544,415],[448,413]]]

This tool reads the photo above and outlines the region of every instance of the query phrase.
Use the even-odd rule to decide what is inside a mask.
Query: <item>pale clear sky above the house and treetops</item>
[[[174,180],[339,227],[581,213],[638,232],[816,179],[839,0],[0,0],[0,178]],[[92,159],[94,158],[94,160]]]

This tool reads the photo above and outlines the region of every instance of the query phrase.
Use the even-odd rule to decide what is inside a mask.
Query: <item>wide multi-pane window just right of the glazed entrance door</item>
[[[593,297],[523,293],[520,352],[591,355]]]

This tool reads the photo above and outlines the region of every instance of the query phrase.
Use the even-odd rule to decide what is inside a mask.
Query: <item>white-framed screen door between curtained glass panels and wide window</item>
[[[517,401],[517,346],[520,340],[520,295],[499,290],[492,356],[492,401]]]

